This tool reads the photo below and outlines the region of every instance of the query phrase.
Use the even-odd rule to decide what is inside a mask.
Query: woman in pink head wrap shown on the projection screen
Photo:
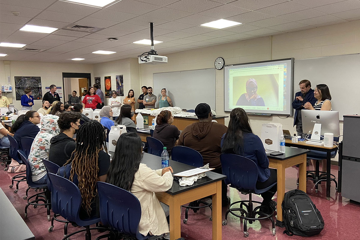
[[[255,79],[250,78],[246,81],[246,93],[243,93],[237,106],[265,106],[264,100],[257,93],[257,82]]]

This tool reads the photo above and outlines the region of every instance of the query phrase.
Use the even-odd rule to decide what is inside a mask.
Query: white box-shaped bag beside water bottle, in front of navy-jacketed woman
[[[264,148],[273,151],[280,150],[280,137],[283,127],[280,123],[264,123],[261,127],[261,142]]]

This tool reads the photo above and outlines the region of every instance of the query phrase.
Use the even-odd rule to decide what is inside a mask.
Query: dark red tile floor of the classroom
[[[308,167],[309,168],[309,167]],[[332,166],[332,174],[337,176],[337,166]],[[295,189],[296,179],[297,179],[298,170],[296,167],[291,167],[286,169],[285,175],[285,191]],[[14,194],[13,189],[9,188],[11,184],[12,174],[1,169],[0,171],[0,187],[5,192],[6,196],[10,199],[15,209],[17,209],[20,216],[24,216],[24,208],[26,205],[26,200],[23,199],[26,190],[26,184],[21,183],[19,185],[19,191],[17,194]],[[311,181],[307,181],[307,194],[316,205],[316,207],[321,212],[321,215],[324,218],[325,228],[319,235],[309,237],[308,239],[328,239],[328,240],[351,240],[351,239],[360,239],[360,205],[350,203],[349,199],[341,197],[341,194],[336,193],[335,185],[331,185],[331,198],[326,200],[325,193],[325,183],[322,183],[319,186],[319,192],[315,193],[315,189],[311,190],[313,187]],[[359,189],[354,189],[359,191]],[[30,193],[33,191],[29,191]],[[231,202],[242,199],[248,199],[248,195],[242,195],[237,190],[233,188],[228,188],[228,194],[231,198]],[[259,200],[261,198],[254,196],[253,200]],[[274,197],[276,201],[276,195]],[[223,218],[226,212],[226,208],[222,209]],[[184,218],[184,212],[182,211],[182,219]],[[210,240],[211,239],[211,221],[210,209],[201,209],[197,213],[189,211],[189,220],[187,224],[181,223],[181,236],[187,240]],[[51,214],[52,215],[52,214]],[[27,226],[30,228],[32,233],[35,235],[36,240],[58,240],[62,239],[63,236],[63,223],[55,222],[54,230],[48,232],[50,222],[46,218],[46,209],[37,207],[37,208],[28,208],[28,217],[24,220]],[[182,221],[182,220],[181,220]],[[68,232],[78,230],[69,225]],[[300,236],[289,237],[283,234],[283,230],[280,227],[276,227],[276,235],[271,234],[271,222],[266,221],[256,221],[252,224],[248,224],[248,239],[256,240],[265,240],[265,239],[304,239]],[[14,226],[14,231],[17,231],[16,226]],[[21,231],[21,230],[20,230]],[[98,232],[93,231],[93,239],[96,236],[102,235]],[[83,235],[73,236],[74,239],[84,239]],[[245,239],[242,234],[242,221],[235,218],[231,214],[228,216],[228,224],[222,226],[222,239]],[[3,240],[3,239],[1,239]],[[10,240],[10,239],[4,239]]]

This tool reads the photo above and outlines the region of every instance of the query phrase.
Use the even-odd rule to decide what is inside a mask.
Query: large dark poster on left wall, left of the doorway
[[[42,99],[41,77],[14,77],[16,100],[20,101],[25,88],[30,88],[34,100]]]

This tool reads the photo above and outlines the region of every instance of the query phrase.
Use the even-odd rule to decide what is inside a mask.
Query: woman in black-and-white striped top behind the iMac
[[[326,84],[318,84],[314,89],[314,97],[318,100],[315,102],[314,107],[311,106],[310,102],[304,104],[305,109],[309,110],[322,110],[322,111],[332,111],[333,107],[331,104],[331,95],[329,88]],[[321,161],[321,171],[326,172],[326,161]],[[312,167],[315,171],[315,160],[311,159]]]

